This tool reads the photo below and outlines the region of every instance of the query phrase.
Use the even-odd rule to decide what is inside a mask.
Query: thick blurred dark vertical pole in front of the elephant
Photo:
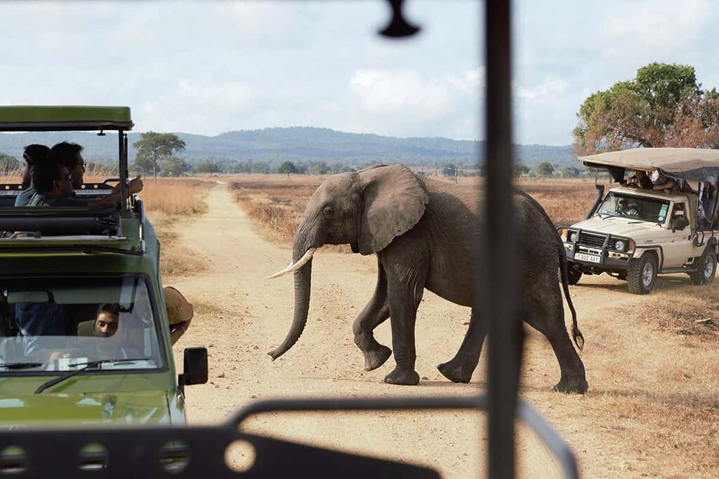
[[[523,329],[518,282],[518,241],[513,203],[510,1],[485,1],[486,222],[480,244],[479,304],[489,321],[490,478],[515,475],[514,419]]]

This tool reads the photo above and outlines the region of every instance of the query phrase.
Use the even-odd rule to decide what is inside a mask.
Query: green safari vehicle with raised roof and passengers
[[[0,131],[97,131],[117,142],[119,177],[75,190],[88,198],[113,184],[127,197],[132,126],[127,107],[0,107]],[[0,185],[0,429],[186,424],[183,388],[207,381],[207,350],[186,349],[175,375],[160,243],[142,200],[15,207],[22,190]],[[103,307],[114,308],[114,334],[96,330]]]

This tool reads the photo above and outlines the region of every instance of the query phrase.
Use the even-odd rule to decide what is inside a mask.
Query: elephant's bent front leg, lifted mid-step
[[[392,355],[392,350],[375,340],[375,327],[382,324],[390,317],[390,307],[387,304],[387,278],[382,265],[377,273],[377,287],[372,299],[367,303],[365,309],[359,313],[354,320],[352,331],[354,332],[354,344],[362,354],[365,355],[365,371],[372,371],[382,366]]]

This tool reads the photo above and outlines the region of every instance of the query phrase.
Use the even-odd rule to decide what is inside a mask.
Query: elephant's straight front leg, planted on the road
[[[392,349],[395,355],[394,371],[385,377],[385,383],[419,383],[419,374],[414,370],[417,354],[415,350],[415,322],[417,307],[422,299],[424,285],[405,287],[388,276],[390,324],[392,325]]]

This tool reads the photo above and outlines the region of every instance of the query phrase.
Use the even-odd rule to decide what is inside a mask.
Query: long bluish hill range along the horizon
[[[216,136],[177,133],[187,149],[180,156],[189,162],[209,159],[214,162],[327,162],[347,165],[375,162],[434,166],[452,162],[471,168],[481,159],[482,141],[446,138],[395,138],[375,134],[357,134],[326,128],[294,126],[261,130],[228,131]],[[134,162],[132,143],[139,133],[129,134],[129,162]],[[94,133],[20,133],[0,134],[0,153],[20,157],[22,147],[41,143],[52,146],[59,141],[74,141],[85,147],[89,161],[116,162],[117,135]],[[559,166],[576,165],[572,149],[546,145],[517,145],[520,162],[534,167],[540,162]]]

